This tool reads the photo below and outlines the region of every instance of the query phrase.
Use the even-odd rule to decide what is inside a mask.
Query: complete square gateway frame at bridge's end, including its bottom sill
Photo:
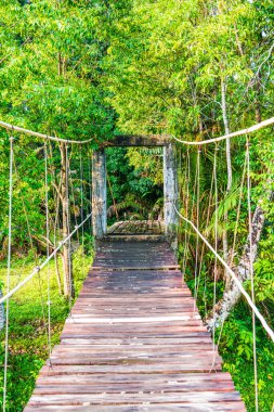
[[[120,221],[107,229],[107,147],[161,146],[164,155],[164,221]],[[96,239],[105,235],[173,236],[178,215],[173,204],[179,201],[177,149],[168,136],[117,136],[104,149],[93,152],[92,158],[92,226]]]

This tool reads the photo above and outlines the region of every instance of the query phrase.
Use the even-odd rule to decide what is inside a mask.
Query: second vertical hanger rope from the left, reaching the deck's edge
[[[44,204],[45,204],[45,237],[47,237],[47,258],[50,256],[50,219],[49,219],[49,183],[48,183],[48,146],[44,143]],[[51,275],[49,266],[47,268],[47,297],[48,297],[48,349],[49,368],[51,368]]]

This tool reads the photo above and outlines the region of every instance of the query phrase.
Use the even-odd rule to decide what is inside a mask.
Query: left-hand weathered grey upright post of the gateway
[[[106,156],[104,150],[92,155],[92,227],[93,235],[102,239],[106,233]]]

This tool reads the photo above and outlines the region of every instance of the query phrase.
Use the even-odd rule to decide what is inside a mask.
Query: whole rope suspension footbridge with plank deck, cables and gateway
[[[242,130],[229,138],[248,134],[274,124],[269,119],[253,128]],[[67,228],[69,221],[69,144],[87,144],[90,141],[62,141],[56,137],[31,132],[0,123],[12,131],[10,137],[10,206],[8,278],[5,295],[0,304],[5,304],[5,359],[3,383],[3,410],[6,410],[6,383],[9,366],[9,301],[30,279],[35,278],[62,248],[68,248],[76,232],[92,219],[96,236],[96,254],[82,289],[70,307],[69,316],[61,336],[61,343],[52,348],[51,311],[49,289],[49,360],[41,369],[26,412],[30,411],[245,411],[245,404],[235,389],[230,373],[222,372],[222,359],[209,327],[203,323],[196,306],[199,287],[199,259],[207,247],[217,262],[222,265],[234,281],[235,288],[246,298],[252,311],[253,360],[256,409],[258,409],[258,377],[256,362],[256,318],[274,342],[274,333],[258,310],[253,296],[252,265],[257,244],[250,209],[250,162],[249,144],[246,145],[245,175],[248,188],[249,240],[246,254],[249,257],[248,271],[251,276],[252,294],[246,292],[243,279],[232,270],[232,262],[218,253],[217,244],[211,245],[199,230],[190,210],[182,215],[178,202],[177,163],[174,146],[167,137],[153,137],[156,145],[165,146],[165,221],[117,222],[106,229],[105,154],[97,151],[93,155],[92,211],[75,229],[64,233],[63,241],[47,259],[14,288],[10,288],[12,252],[12,198],[13,198],[13,146],[14,133],[34,134],[45,141],[64,144],[64,207]],[[175,138],[177,139],[177,138]],[[217,145],[226,137],[203,142],[181,144],[197,145],[197,158],[204,144]],[[125,139],[118,139],[125,145]],[[140,139],[133,139],[140,145]],[[123,143],[121,143],[123,142]],[[249,141],[247,141],[249,143]],[[117,143],[116,143],[117,144]],[[145,140],[147,145],[147,140]],[[47,237],[49,239],[48,211],[48,157],[45,147],[45,207]],[[218,151],[214,152],[214,166]],[[190,170],[185,171],[187,178]],[[213,168],[213,183],[217,172]],[[199,180],[197,163],[196,178]],[[187,180],[187,179],[186,179]],[[198,186],[197,186],[198,188]],[[217,197],[217,193],[216,193]],[[199,199],[199,196],[198,196]],[[258,216],[256,215],[258,218]],[[253,216],[255,219],[255,216]],[[174,239],[174,226],[184,221],[197,237],[195,266],[195,295],[192,296],[183,280],[170,240]],[[216,222],[217,224],[217,222]],[[259,224],[256,230],[258,231]],[[216,229],[217,230],[217,229]],[[184,253],[187,253],[190,231],[185,231]],[[173,235],[173,237],[172,237]],[[185,262],[185,260],[184,260]],[[183,265],[184,265],[183,262]],[[243,263],[244,265],[244,263]],[[247,270],[247,266],[245,267]],[[216,281],[216,279],[214,279]],[[71,273],[68,265],[67,286],[73,293]],[[71,299],[71,296],[70,296]],[[216,302],[216,282],[214,282]],[[214,308],[213,308],[214,311]],[[213,313],[214,316],[218,313]],[[223,324],[224,319],[220,319]]]

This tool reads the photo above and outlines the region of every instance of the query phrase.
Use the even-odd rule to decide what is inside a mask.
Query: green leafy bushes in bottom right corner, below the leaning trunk
[[[225,322],[220,340],[224,370],[231,372],[236,388],[242,392],[248,411],[255,411],[253,353],[250,313],[239,304]],[[257,324],[259,408],[271,411],[274,381],[274,356],[270,339]]]

